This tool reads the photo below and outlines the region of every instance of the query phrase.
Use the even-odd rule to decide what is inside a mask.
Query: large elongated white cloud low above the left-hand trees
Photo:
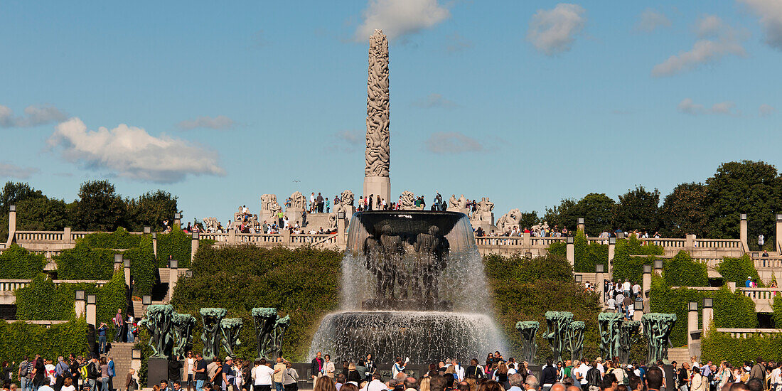
[[[225,174],[217,152],[166,135],[154,137],[140,127],[120,124],[88,131],[80,119],[71,118],[55,129],[48,144],[60,149],[65,160],[119,177],[173,183],[188,174]]]

